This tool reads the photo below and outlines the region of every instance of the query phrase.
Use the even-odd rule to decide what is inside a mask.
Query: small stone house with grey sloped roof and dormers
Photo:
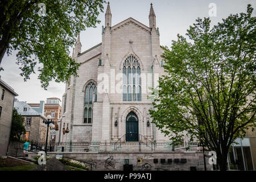
[[[46,142],[47,127],[42,126],[42,123],[47,118],[39,111],[33,109],[26,102],[15,99],[14,107],[18,113],[24,117],[26,133],[22,139],[32,140],[33,142]],[[49,134],[50,130],[48,136]]]

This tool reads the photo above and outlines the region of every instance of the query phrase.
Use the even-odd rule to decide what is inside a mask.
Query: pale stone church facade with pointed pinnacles
[[[158,77],[164,75],[160,57],[163,49],[160,47],[160,35],[152,5],[148,18],[150,27],[133,18],[112,26],[108,4],[105,27],[102,27],[102,43],[81,53],[80,37],[78,38],[73,58],[81,66],[79,77],[71,77],[71,81],[65,86],[59,125],[60,142],[65,142],[66,137],[67,141],[72,142],[117,141],[126,134],[126,116],[130,111],[138,117],[139,135],[151,141],[168,140],[151,123],[148,113],[153,106],[152,100],[147,98],[150,96],[147,88],[155,88]],[[117,92],[117,83],[120,81],[118,75],[122,75],[123,63],[129,55],[137,57],[141,68],[141,101],[123,101],[123,93]],[[85,89],[90,82],[97,86],[97,101],[93,102],[92,123],[84,123]],[[102,83],[105,86],[104,92],[101,92]],[[114,125],[115,121],[117,126]],[[65,127],[68,123],[70,132],[63,136],[61,131],[64,123]]]

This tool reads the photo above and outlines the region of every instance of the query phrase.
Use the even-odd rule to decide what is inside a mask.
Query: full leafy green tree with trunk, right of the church
[[[256,18],[253,8],[210,28],[198,18],[164,48],[167,74],[159,78],[151,117],[172,142],[196,139],[227,169],[230,145],[255,123]]]

